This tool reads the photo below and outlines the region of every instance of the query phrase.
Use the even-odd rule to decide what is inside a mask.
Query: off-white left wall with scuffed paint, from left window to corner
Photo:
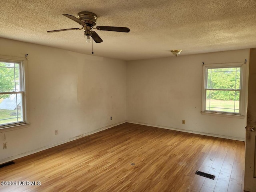
[[[0,148],[0,162],[126,121],[125,61],[3,38],[0,45],[0,55],[29,54],[31,122],[18,130],[0,130],[0,144],[8,147]]]

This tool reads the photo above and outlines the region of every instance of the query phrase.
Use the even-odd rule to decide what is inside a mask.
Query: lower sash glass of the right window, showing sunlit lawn
[[[206,90],[206,110],[239,113],[239,99],[240,91]]]

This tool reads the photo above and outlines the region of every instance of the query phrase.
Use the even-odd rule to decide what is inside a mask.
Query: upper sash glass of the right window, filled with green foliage
[[[208,68],[208,89],[240,89],[241,67],[234,68]]]

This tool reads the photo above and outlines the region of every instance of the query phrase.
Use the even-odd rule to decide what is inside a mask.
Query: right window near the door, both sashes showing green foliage
[[[203,67],[202,112],[244,114],[245,64],[205,64]]]

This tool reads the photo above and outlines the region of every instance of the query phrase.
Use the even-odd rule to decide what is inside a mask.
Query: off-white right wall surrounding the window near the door
[[[249,60],[249,49],[129,61],[127,121],[245,140],[246,117],[200,113],[202,62],[243,62],[245,59]],[[182,124],[182,120],[186,120],[186,124]]]

